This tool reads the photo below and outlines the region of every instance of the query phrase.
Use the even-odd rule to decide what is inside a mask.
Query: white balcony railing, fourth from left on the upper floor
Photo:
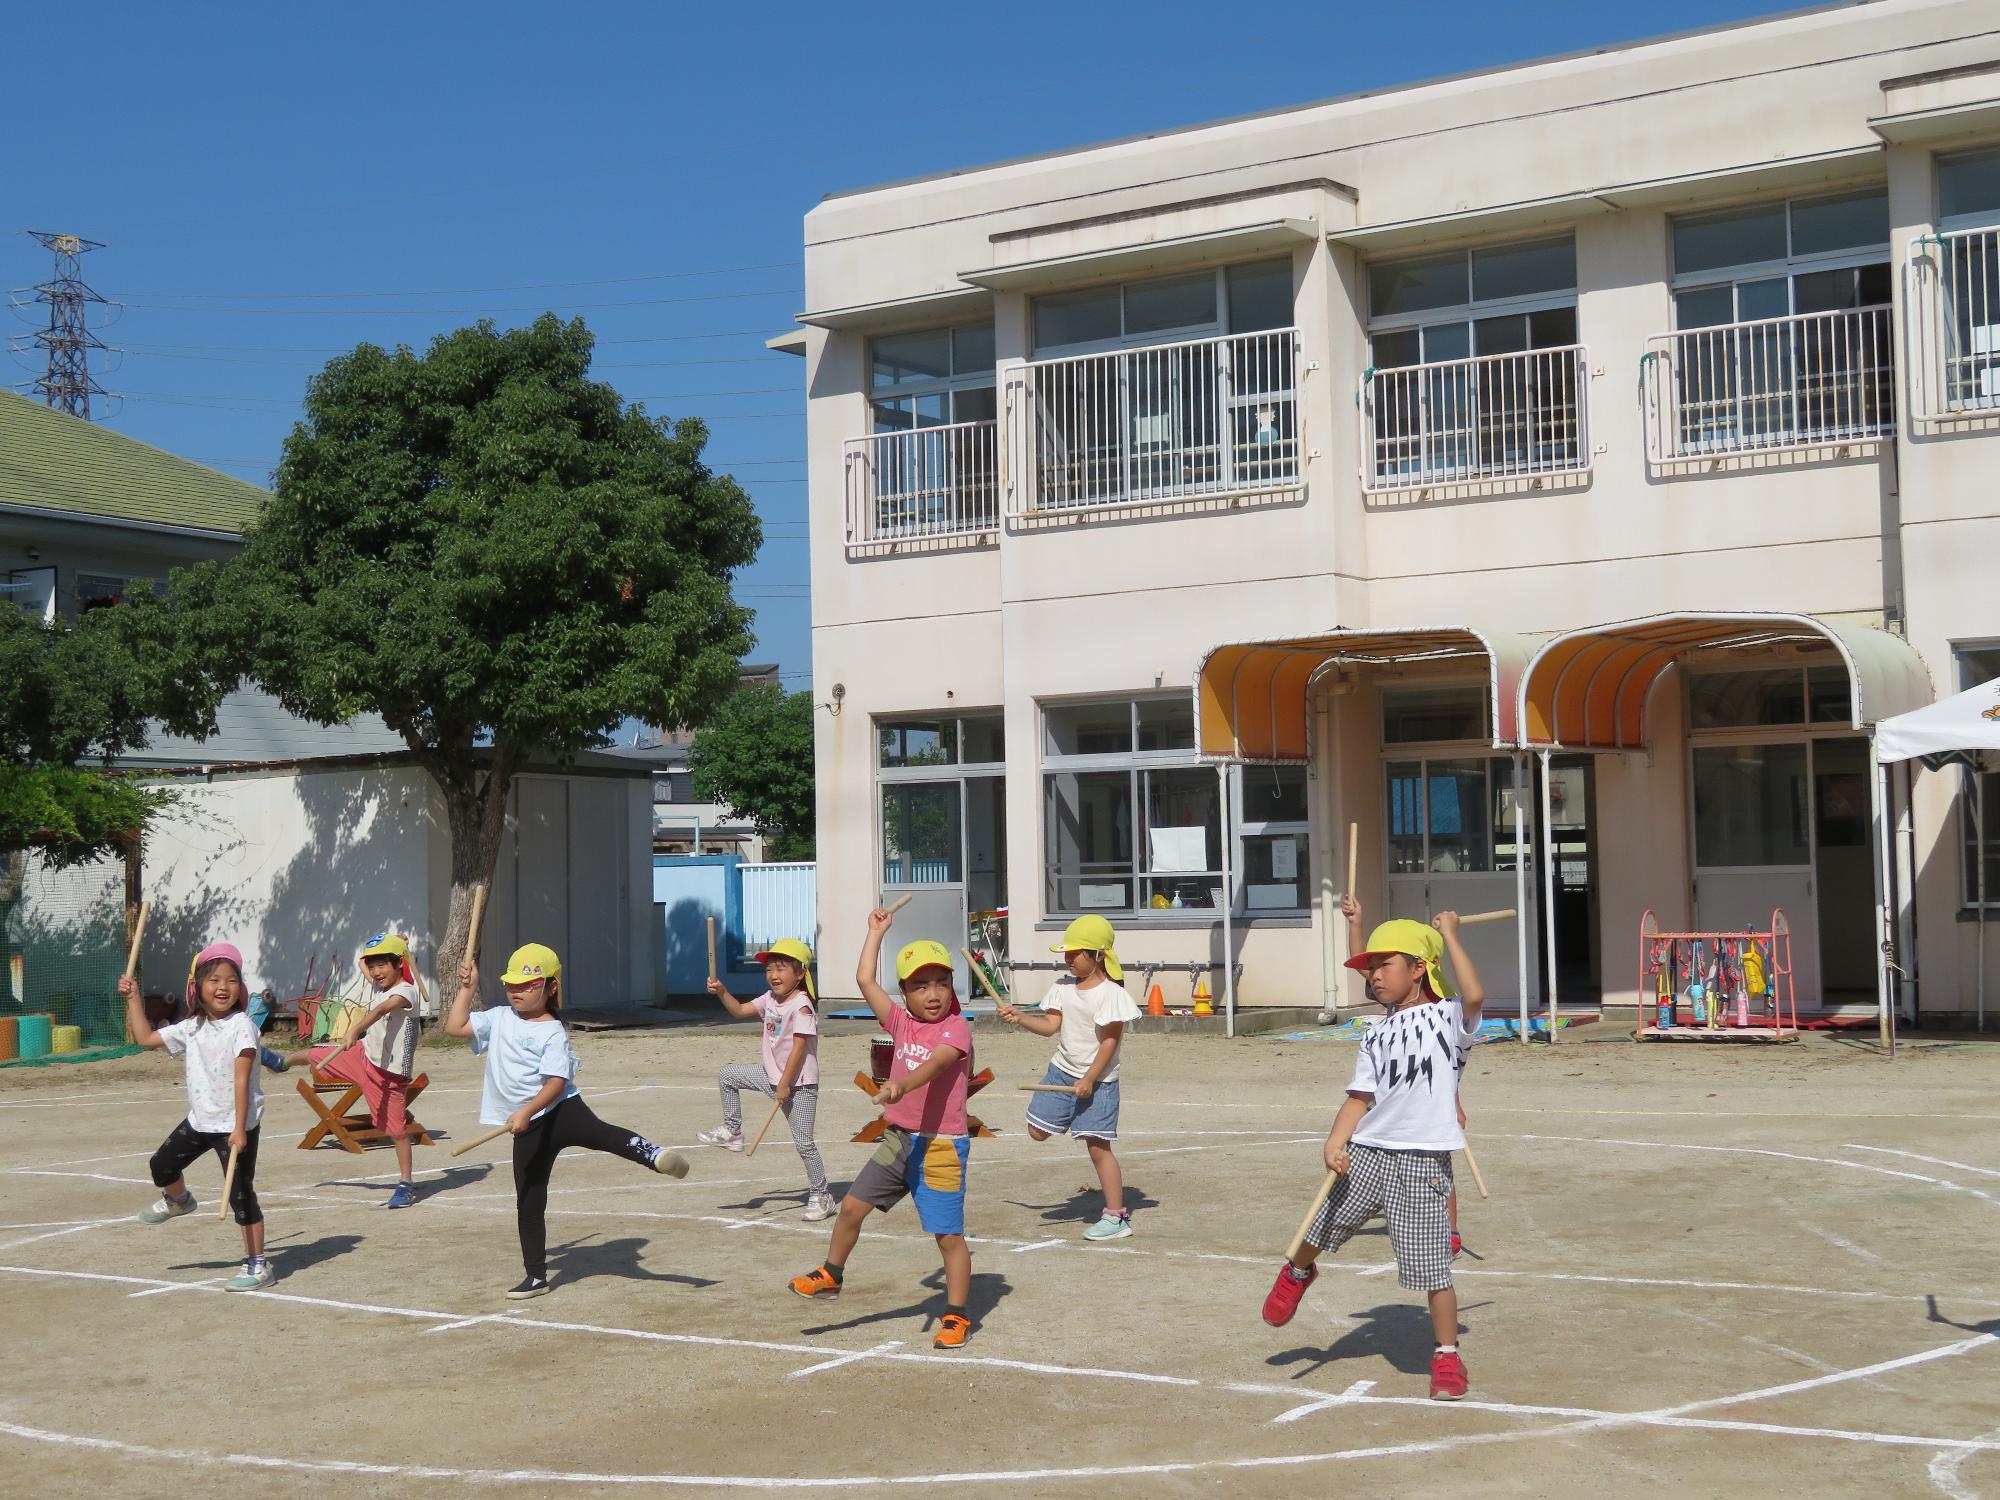
[[[1896,430],[1890,310],[1660,334],[1646,342],[1640,384],[1654,464],[1882,438]]]

